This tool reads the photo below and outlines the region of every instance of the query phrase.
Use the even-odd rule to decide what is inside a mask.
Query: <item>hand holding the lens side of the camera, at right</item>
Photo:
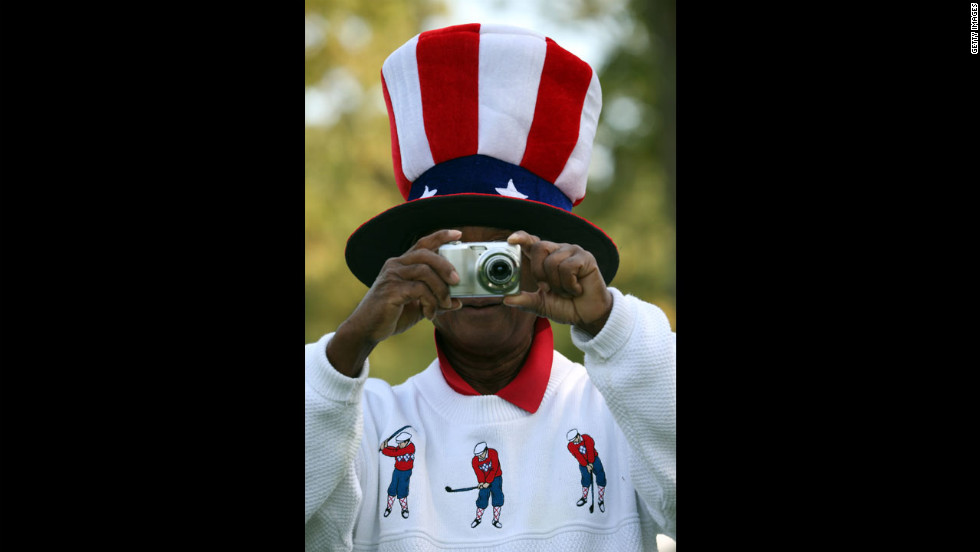
[[[520,244],[521,272],[531,275],[537,291],[507,296],[505,305],[572,324],[593,336],[599,333],[613,298],[591,253],[578,245],[541,241],[523,230],[511,234],[507,243]]]

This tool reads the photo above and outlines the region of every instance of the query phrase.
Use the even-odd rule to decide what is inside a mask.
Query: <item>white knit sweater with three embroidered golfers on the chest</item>
[[[307,550],[656,550],[676,539],[676,336],[657,307],[610,288],[614,304],[595,338],[572,328],[585,366],[557,351],[538,411],[446,383],[438,360],[394,387],[348,378],[327,361],[333,334],[306,346]],[[416,447],[409,517],[387,505],[394,458],[378,447],[411,425]],[[566,433],[595,440],[606,476],[605,512],[589,513]],[[504,504],[471,528],[476,443],[499,455]],[[394,442],[391,443],[392,445]],[[596,492],[598,485],[591,489]],[[598,502],[598,496],[591,500]]]

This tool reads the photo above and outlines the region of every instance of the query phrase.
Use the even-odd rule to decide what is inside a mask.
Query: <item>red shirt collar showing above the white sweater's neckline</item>
[[[449,360],[439,347],[436,337],[436,352],[439,353],[439,368],[442,377],[449,387],[461,395],[479,395],[473,387],[466,383],[449,364]],[[555,339],[551,332],[551,323],[547,318],[538,317],[534,323],[534,338],[531,341],[531,351],[521,366],[520,372],[513,381],[495,393],[496,396],[534,414],[541,406],[548,379],[551,377],[551,363],[555,352]]]

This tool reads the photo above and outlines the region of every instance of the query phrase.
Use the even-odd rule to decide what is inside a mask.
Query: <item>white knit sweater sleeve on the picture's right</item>
[[[676,539],[676,334],[659,308],[615,288],[595,337],[572,327],[589,378],[629,441],[630,475],[659,531]]]

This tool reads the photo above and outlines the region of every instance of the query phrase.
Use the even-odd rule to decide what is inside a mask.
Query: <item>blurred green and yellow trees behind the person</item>
[[[488,1],[480,20],[474,5],[306,0],[306,343],[333,331],[367,291],[344,261],[347,237],[404,201],[382,63],[422,31],[472,22],[532,28],[598,71],[603,109],[575,213],[619,246],[613,285],[661,307],[676,331],[675,0]],[[579,48],[588,40],[597,46]],[[556,348],[581,362],[568,328],[554,329]],[[397,384],[420,371],[435,358],[432,332],[423,320],[386,341],[371,355],[371,375]]]

